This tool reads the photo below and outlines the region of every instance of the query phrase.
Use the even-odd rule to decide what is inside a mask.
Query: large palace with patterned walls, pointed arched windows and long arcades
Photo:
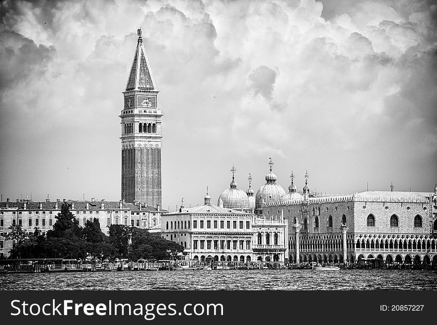
[[[437,186],[434,193],[365,191],[302,197],[264,206],[266,218],[288,220],[290,262],[437,264]]]

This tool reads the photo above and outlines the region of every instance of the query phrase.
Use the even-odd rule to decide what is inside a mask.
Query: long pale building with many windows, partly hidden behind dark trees
[[[53,229],[56,216],[61,212],[62,204],[70,205],[70,211],[78,220],[80,226],[86,221],[93,221],[97,218],[102,232],[109,235],[111,224],[120,224],[141,229],[153,229],[156,232],[159,227],[161,214],[167,212],[159,206],[149,206],[146,203],[139,204],[125,203],[123,201],[75,201],[59,200],[34,202],[29,200],[17,200],[11,202],[0,202],[0,258],[7,257],[9,250],[15,244],[6,240],[5,236],[10,231],[11,224],[18,224],[28,233],[33,233],[38,227],[43,235]]]

